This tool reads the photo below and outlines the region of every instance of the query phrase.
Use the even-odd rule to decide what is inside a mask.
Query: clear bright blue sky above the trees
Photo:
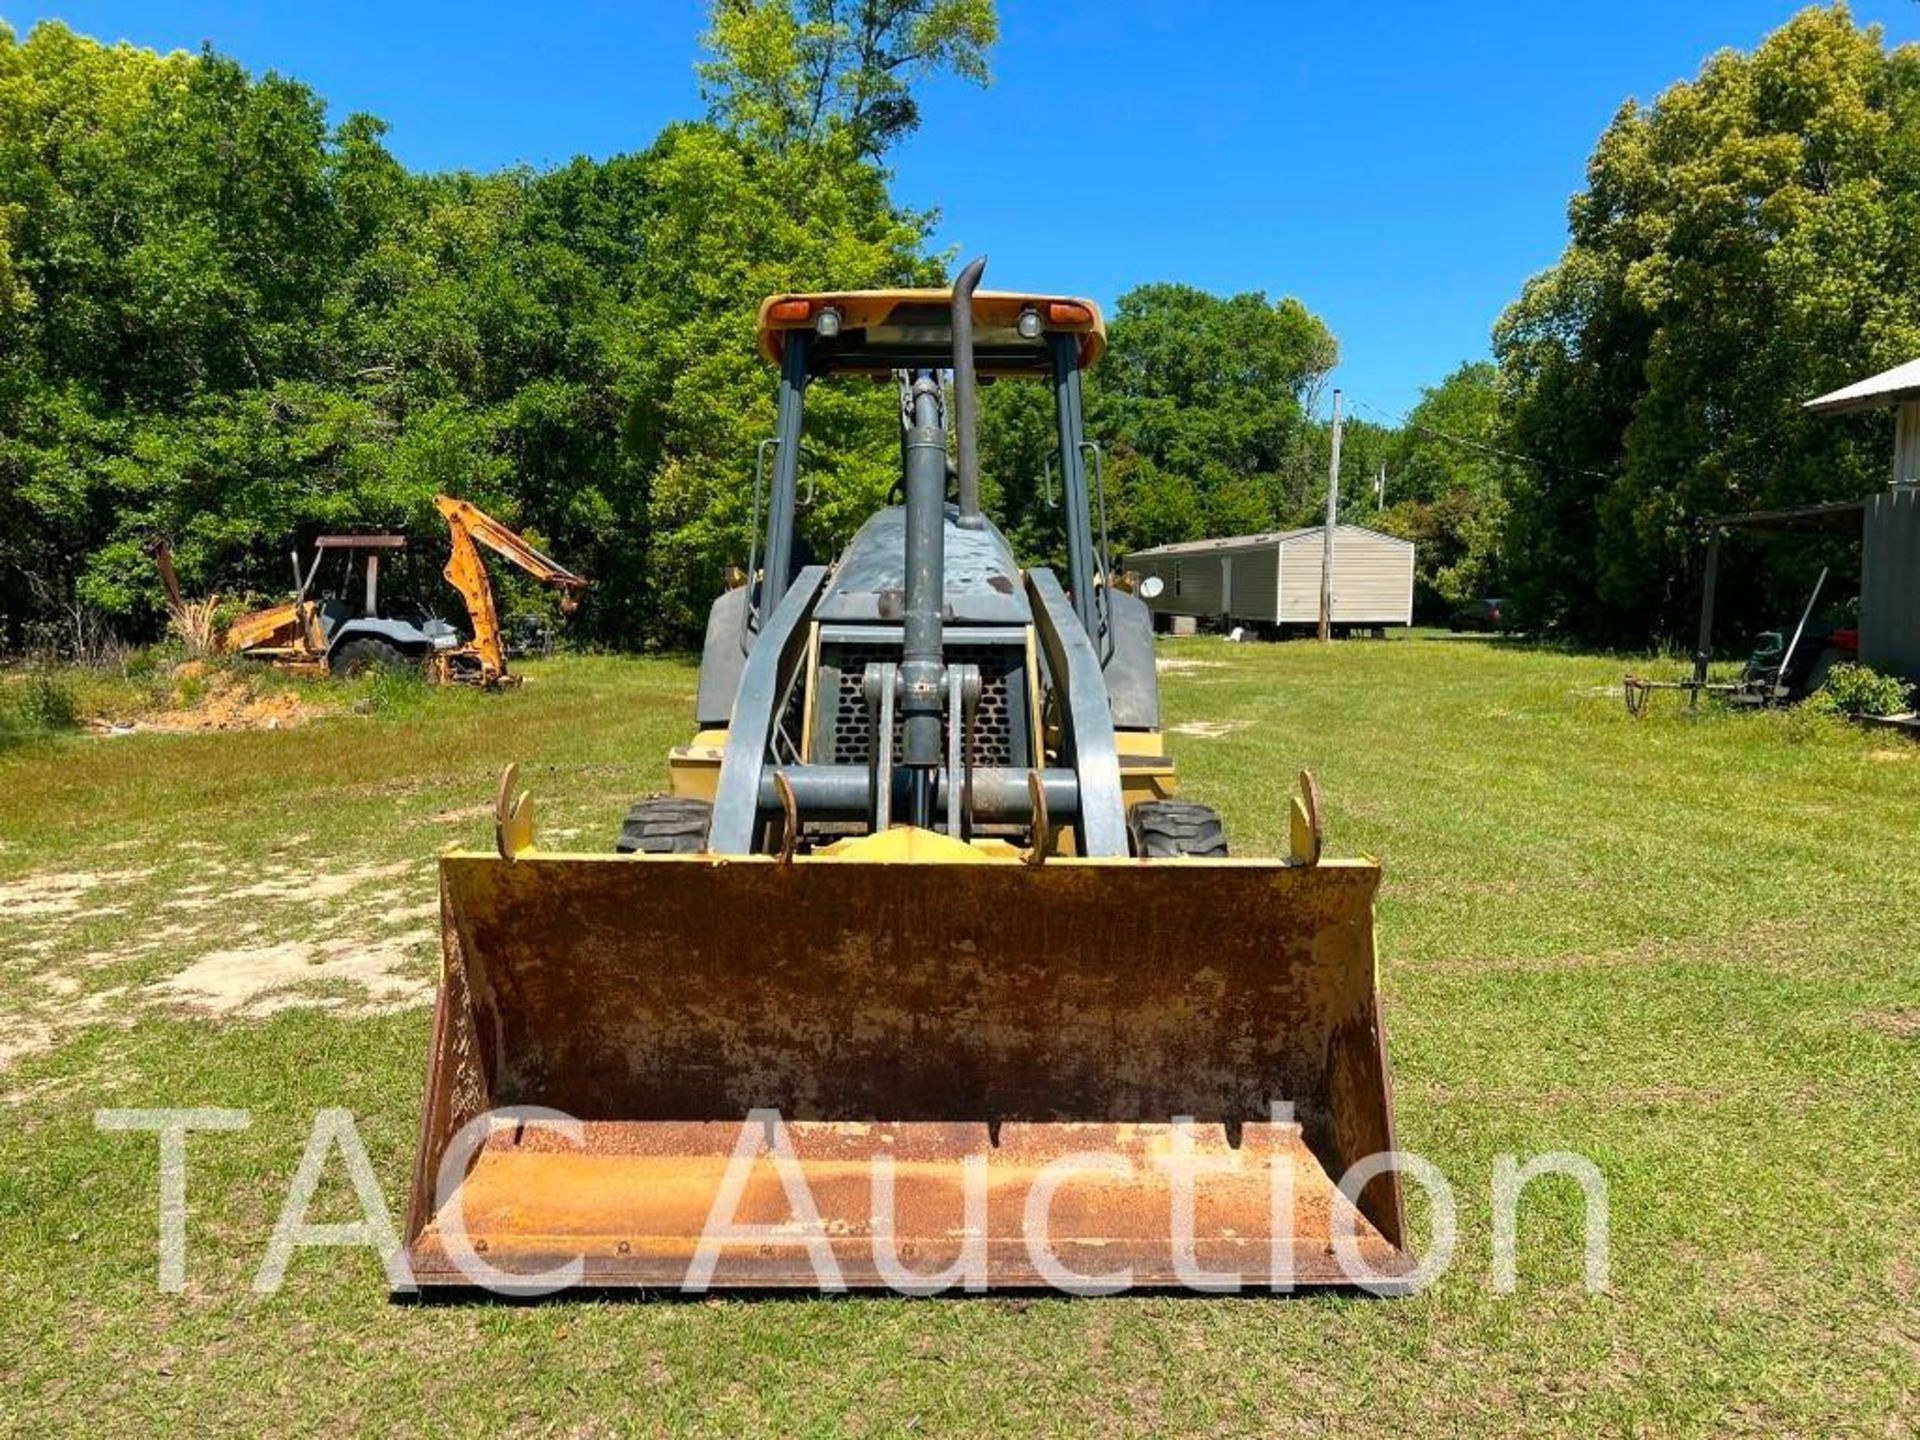
[[[1340,336],[1361,417],[1404,411],[1553,263],[1567,198],[1626,96],[1751,48],[1774,0],[1238,4],[1000,0],[995,84],[937,83],[891,163],[991,280],[1294,294]],[[369,109],[422,169],[549,165],[697,115],[701,0],[545,6],[0,0],[25,31],[213,44]],[[1855,17],[1920,38],[1920,4]]]

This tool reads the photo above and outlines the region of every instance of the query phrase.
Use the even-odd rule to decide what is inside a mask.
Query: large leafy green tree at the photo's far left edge
[[[330,276],[355,259],[330,192],[355,156],[326,140],[311,92],[219,56],[0,27],[0,213],[29,296],[0,332],[8,639],[33,614],[138,614],[134,532],[169,503],[215,528],[275,493],[265,459],[298,445],[267,444],[261,420],[292,424],[265,401],[336,361]]]

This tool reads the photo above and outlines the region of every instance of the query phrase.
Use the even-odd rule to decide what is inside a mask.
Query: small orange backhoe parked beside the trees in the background
[[[321,536],[305,566],[296,553],[294,599],[236,618],[227,628],[223,649],[307,674],[353,676],[374,666],[426,666],[442,684],[516,685],[518,676],[507,670],[499,607],[480,547],[559,588],[563,614],[572,614],[588,582],[465,499],[436,495],[434,507],[447,522],[451,543],[442,574],[467,605],[470,639],[426,611],[382,609],[382,557],[403,551],[407,538],[363,534]],[[165,540],[156,540],[152,551],[167,601],[180,614],[184,607],[173,553]]]

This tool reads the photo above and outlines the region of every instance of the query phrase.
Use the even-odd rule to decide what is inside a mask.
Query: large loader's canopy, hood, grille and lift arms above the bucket
[[[695,701],[707,743],[676,758],[676,793],[716,795],[708,841],[722,852],[751,845],[768,814],[739,758],[739,780],[693,778],[720,766],[722,733],[728,753],[756,756],[756,776],[772,764],[801,785],[797,835],[808,843],[841,824],[885,831],[895,791],[899,814],[922,829],[1025,833],[1029,780],[1043,776],[1075,852],[1125,854],[1123,799],[1135,791],[1123,795],[1119,756],[1129,783],[1171,776],[1158,749],[1152,622],[1110,584],[1100,447],[1085,432],[1083,371],[1106,351],[1100,309],[975,290],[981,267],[952,290],[778,294],[760,305],[778,420],[756,451],[745,584],[708,614]],[[806,392],[839,374],[899,386],[904,503],[874,513],[829,564],[808,564],[797,515]],[[1060,578],[1021,566],[981,509],[977,382],[996,380],[1052,390],[1044,493],[1064,540]],[[781,699],[762,716],[739,695],[768,645]],[[1050,758],[1048,733],[1071,764]]]

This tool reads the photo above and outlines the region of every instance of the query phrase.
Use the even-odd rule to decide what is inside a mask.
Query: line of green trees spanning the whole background
[[[156,534],[200,593],[284,591],[324,530],[434,553],[442,490],[593,578],[578,637],[684,643],[747,555],[758,300],[945,282],[885,156],[914,86],[985,83],[995,40],[991,0],[716,0],[705,119],[420,175],[378,119],[215,50],[0,27],[0,647],[156,634]],[[1676,622],[1699,515],[1878,484],[1884,426],[1799,401],[1920,353],[1916,165],[1920,61],[1843,6],[1628,104],[1492,361],[1348,422],[1342,518],[1419,541],[1430,611]],[[1121,296],[1087,396],[1116,549],[1317,522],[1336,361],[1294,298]],[[814,392],[816,553],[885,503],[891,407]],[[1035,561],[1062,549],[1046,409],[1033,386],[983,403],[983,488]],[[1801,584],[1782,559],[1734,574],[1736,609]]]

